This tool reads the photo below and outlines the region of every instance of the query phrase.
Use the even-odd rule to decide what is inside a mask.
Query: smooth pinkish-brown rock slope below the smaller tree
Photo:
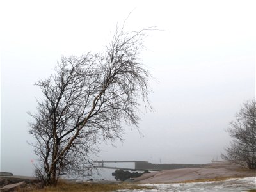
[[[196,180],[225,179],[232,177],[256,177],[255,170],[239,165],[220,162],[205,164],[201,168],[182,168],[146,173],[133,180],[141,184],[193,182]]]

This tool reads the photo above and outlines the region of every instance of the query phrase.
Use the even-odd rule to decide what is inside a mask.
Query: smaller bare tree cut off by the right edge
[[[230,147],[225,148],[222,158],[234,163],[255,168],[256,163],[256,101],[248,100],[243,103],[236,114],[237,120],[230,122],[227,132],[232,136]]]

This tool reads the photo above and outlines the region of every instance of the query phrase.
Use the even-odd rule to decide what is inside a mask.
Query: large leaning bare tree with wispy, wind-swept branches
[[[56,184],[60,175],[86,175],[97,152],[99,138],[122,138],[122,122],[138,127],[140,102],[148,102],[150,74],[140,63],[145,36],[116,29],[104,54],[63,57],[55,73],[36,83],[44,93],[31,114],[29,133],[40,157],[37,170],[45,184]]]

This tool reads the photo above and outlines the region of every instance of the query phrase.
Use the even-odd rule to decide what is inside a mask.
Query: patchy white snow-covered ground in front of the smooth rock
[[[155,192],[155,191],[248,191],[249,189],[256,189],[256,177],[244,177],[236,179],[228,179],[218,182],[193,182],[182,184],[141,184],[141,186],[150,186],[154,189],[144,190],[118,190],[118,192]]]

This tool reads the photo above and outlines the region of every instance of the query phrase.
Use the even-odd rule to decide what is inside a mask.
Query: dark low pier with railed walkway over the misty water
[[[148,161],[94,161],[98,163],[97,168],[108,168],[118,170],[131,170],[131,171],[160,171],[160,170],[173,170],[179,168],[198,168],[202,167],[202,164],[154,164]],[[134,163],[134,168],[120,168],[112,166],[104,166],[104,163]]]

